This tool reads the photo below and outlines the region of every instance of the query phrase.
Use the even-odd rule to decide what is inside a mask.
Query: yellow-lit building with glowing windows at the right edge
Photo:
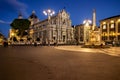
[[[120,42],[120,15],[100,20],[101,40]]]

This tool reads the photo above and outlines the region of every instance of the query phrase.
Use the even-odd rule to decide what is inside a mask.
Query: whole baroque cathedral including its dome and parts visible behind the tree
[[[18,15],[18,19],[23,19],[22,15]],[[71,26],[70,15],[66,10],[59,11],[56,15],[50,16],[50,20],[39,20],[35,11],[28,17],[31,22],[28,35],[23,38],[24,42],[29,38],[30,41],[38,41],[41,44],[69,44],[74,40],[73,28]],[[10,29],[9,40],[19,36],[16,35],[17,30]]]

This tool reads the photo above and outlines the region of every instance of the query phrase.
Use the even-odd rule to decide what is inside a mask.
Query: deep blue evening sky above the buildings
[[[43,10],[50,8],[57,13],[64,7],[72,25],[81,24],[85,19],[92,20],[93,9],[96,9],[98,26],[99,20],[120,15],[120,0],[0,0],[0,32],[8,36],[9,24],[19,12],[28,18],[35,10],[38,18],[44,20],[47,17]]]

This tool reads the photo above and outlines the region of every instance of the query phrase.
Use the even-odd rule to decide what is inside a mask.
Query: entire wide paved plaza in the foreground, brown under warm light
[[[119,47],[0,47],[0,80],[120,80],[119,54]]]

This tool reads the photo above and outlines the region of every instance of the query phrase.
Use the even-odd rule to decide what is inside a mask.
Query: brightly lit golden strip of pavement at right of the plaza
[[[120,47],[111,47],[111,48],[100,48],[100,49],[92,49],[92,48],[81,48],[81,46],[58,46],[55,47],[59,50],[67,50],[67,51],[79,51],[79,52],[90,52],[90,53],[104,53],[111,56],[119,56],[120,57]]]

